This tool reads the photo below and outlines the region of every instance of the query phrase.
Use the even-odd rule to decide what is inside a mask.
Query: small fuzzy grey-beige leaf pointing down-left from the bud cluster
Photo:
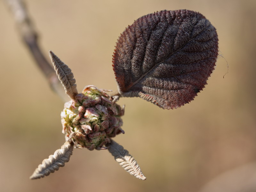
[[[66,141],[60,149],[56,150],[53,155],[50,155],[48,159],[44,159],[42,164],[38,165],[38,168],[36,168],[29,179],[40,179],[54,171],[58,171],[60,167],[64,167],[65,163],[69,161],[72,151],[73,143]]]

